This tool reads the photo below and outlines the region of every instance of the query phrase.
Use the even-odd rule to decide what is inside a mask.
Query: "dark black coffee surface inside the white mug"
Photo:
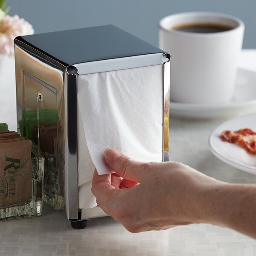
[[[171,29],[190,32],[190,33],[216,33],[224,32],[233,29],[232,26],[227,26],[219,23],[186,23],[172,26]]]

